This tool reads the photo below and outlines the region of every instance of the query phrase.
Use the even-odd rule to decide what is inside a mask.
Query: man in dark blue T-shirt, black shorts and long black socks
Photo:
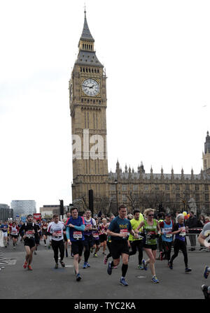
[[[125,275],[128,268],[129,249],[127,244],[128,232],[132,233],[135,238],[137,234],[132,230],[130,221],[125,218],[127,215],[127,208],[125,205],[120,205],[118,209],[118,217],[111,221],[107,234],[111,235],[111,256],[113,261],[109,262],[107,272],[109,275],[112,273],[113,266],[118,266],[120,263],[120,256],[122,256],[122,277],[120,278],[120,284],[128,286],[125,281]]]

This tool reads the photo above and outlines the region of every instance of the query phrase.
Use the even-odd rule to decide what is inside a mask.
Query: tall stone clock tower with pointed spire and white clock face
[[[94,51],[94,38],[85,20],[78,57],[69,80],[73,184],[72,201],[93,190],[94,200],[107,195],[106,74]],[[94,204],[95,208],[95,204]]]

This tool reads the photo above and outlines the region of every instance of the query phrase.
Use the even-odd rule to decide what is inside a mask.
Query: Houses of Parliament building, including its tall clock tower
[[[207,132],[202,155],[203,169],[195,175],[145,173],[141,163],[135,172],[116,163],[108,170],[106,157],[106,73],[97,59],[94,38],[85,20],[78,42],[78,57],[69,80],[69,104],[73,150],[72,203],[85,210],[93,191],[94,212],[116,212],[121,203],[134,208],[188,210],[190,202],[200,212],[209,213],[210,136]]]

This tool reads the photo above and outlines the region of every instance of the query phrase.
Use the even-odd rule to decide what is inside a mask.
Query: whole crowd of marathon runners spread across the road
[[[91,217],[90,210],[87,210],[83,217],[78,215],[77,208],[71,208],[71,212],[66,213],[66,219],[59,221],[59,216],[55,214],[53,221],[47,223],[43,221],[41,225],[33,220],[29,214],[27,221],[18,228],[15,223],[10,226],[10,234],[13,238],[13,247],[15,247],[18,233],[24,240],[26,258],[24,268],[32,270],[31,261],[33,253],[38,246],[38,233],[42,232],[42,237],[47,246],[46,240],[50,236],[50,245],[52,246],[55,259],[55,269],[58,266],[58,260],[64,268],[64,252],[68,256],[68,245],[71,246],[71,256],[73,257],[73,268],[76,280],[82,279],[79,270],[79,264],[84,254],[83,268],[89,268],[88,263],[90,253],[97,257],[99,249],[104,254],[104,264],[107,264],[108,275],[112,274],[113,268],[120,264],[122,259],[120,284],[128,286],[126,274],[128,270],[129,259],[132,255],[137,254],[139,270],[151,270],[151,281],[159,283],[155,273],[155,260],[157,257],[158,241],[161,238],[163,251],[160,253],[160,260],[167,260],[167,266],[173,269],[174,260],[179,254],[183,253],[185,263],[185,272],[190,272],[188,265],[188,252],[186,249],[186,226],[183,214],[177,214],[176,221],[172,220],[171,214],[165,214],[165,219],[159,221],[154,217],[155,210],[148,208],[141,214],[139,210],[134,210],[133,218],[127,219],[127,208],[120,205],[118,216],[111,215],[109,221],[106,218],[99,219]],[[6,226],[1,225],[5,232]],[[210,234],[210,223],[204,225],[199,235],[201,245],[209,248],[206,238]],[[172,254],[172,245],[174,253]],[[109,254],[106,254],[106,247]],[[143,252],[146,252],[147,259],[143,259]],[[109,261],[110,259],[110,261]],[[205,266],[204,277],[207,278],[210,267]],[[207,285],[202,286],[204,295],[209,297],[210,288]]]

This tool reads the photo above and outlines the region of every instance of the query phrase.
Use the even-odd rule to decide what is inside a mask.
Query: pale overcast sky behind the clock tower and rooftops
[[[107,75],[109,170],[200,173],[210,116],[209,0],[86,0]],[[71,203],[69,78],[83,0],[0,1],[0,203]]]

